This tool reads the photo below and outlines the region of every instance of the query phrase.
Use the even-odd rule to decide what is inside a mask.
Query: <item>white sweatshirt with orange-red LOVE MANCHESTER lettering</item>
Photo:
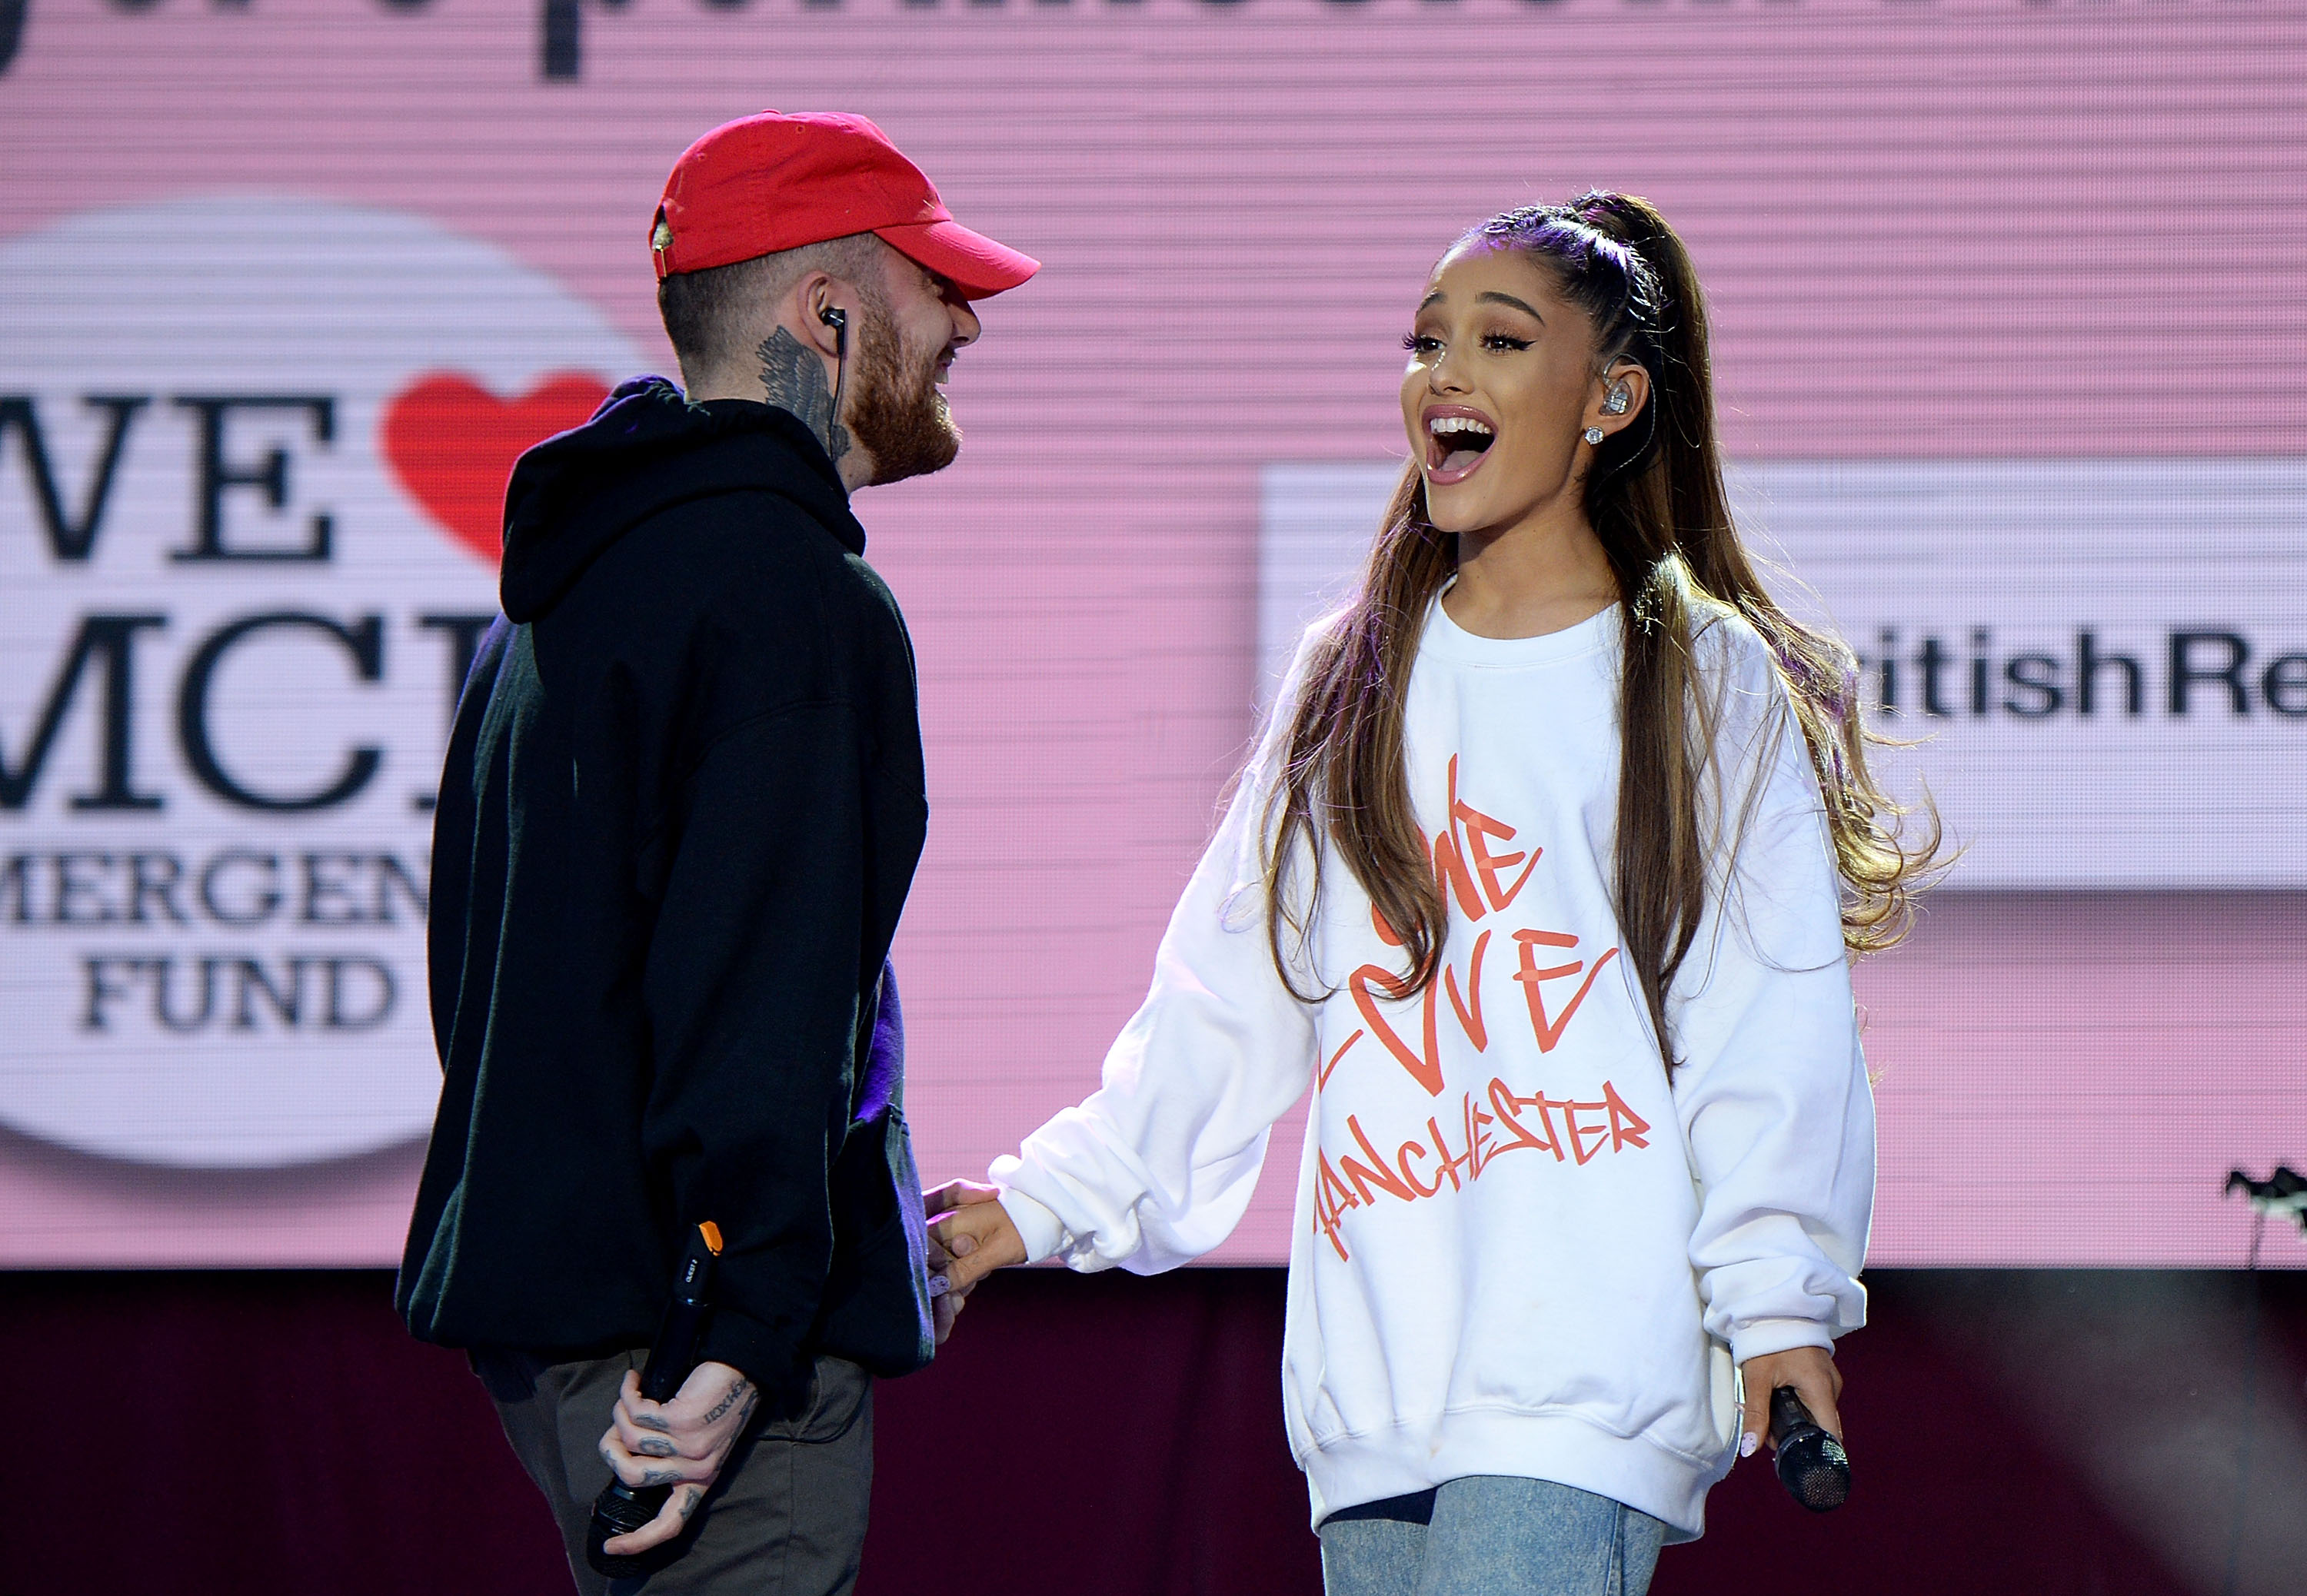
[[[1241,1220],[1269,1128],[1313,1082],[1283,1405],[1315,1525],[1509,1474],[1696,1536],[1735,1455],[1733,1358],[1864,1322],[1873,1098],[1818,782],[1760,637],[1723,618],[1698,657],[1728,821],[1668,996],[1673,1086],[1610,893],[1617,611],[1502,641],[1435,604],[1407,756],[1449,897],[1444,978],[1391,996],[1403,955],[1331,858],[1299,976],[1331,996],[1283,985],[1260,867],[1271,729],[1103,1086],[992,1167],[1034,1259],[1172,1268]]]

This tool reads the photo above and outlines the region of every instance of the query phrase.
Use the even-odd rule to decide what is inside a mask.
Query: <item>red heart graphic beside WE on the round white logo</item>
[[[385,459],[424,514],[496,565],[512,461],[586,422],[607,397],[609,385],[586,371],[554,371],[519,399],[498,399],[457,371],[431,371],[385,406]]]

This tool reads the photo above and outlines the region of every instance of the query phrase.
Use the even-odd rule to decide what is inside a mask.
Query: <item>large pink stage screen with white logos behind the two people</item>
[[[0,0],[0,1264],[397,1257],[503,468],[671,369],[657,187],[764,106],[1045,261],[960,464],[858,498],[932,1181],[1096,1082],[1433,256],[1608,185],[1972,842],[1859,971],[1873,1259],[2240,1259],[2224,1172],[2307,1162],[2302,85],[2249,0]],[[1292,1165],[1218,1262],[1283,1259]]]

